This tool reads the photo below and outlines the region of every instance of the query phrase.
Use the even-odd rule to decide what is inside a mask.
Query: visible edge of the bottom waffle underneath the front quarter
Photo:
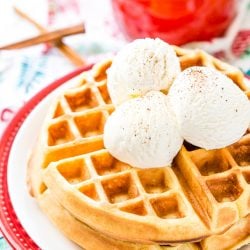
[[[218,246],[220,250],[232,250],[239,249],[247,244],[250,237],[250,216],[248,216],[248,218],[242,219],[222,235],[210,236],[200,243],[183,243],[177,246],[142,245],[115,240],[93,230],[74,218],[51,196],[49,190],[39,197],[39,204],[44,213],[66,237],[87,250],[214,250],[218,249]]]

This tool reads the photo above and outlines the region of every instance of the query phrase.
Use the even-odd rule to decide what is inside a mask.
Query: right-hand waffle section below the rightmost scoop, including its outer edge
[[[249,137],[249,134],[244,136],[243,140],[246,137]],[[237,150],[240,150],[241,147],[241,145],[238,145]],[[200,196],[199,201],[207,210],[210,219],[214,221],[215,227],[226,225],[226,221],[232,223],[238,217],[242,218],[249,214],[250,186],[248,177],[250,161],[246,162],[246,159],[250,154],[250,141],[244,147],[247,147],[245,154],[242,155],[244,157],[244,166],[240,162],[236,162],[235,156],[237,154],[233,146],[222,150],[205,151],[197,149],[188,153],[194,163],[192,164],[194,166],[192,174],[200,181],[199,185],[203,189],[203,195],[207,197],[207,200],[201,199],[201,194],[194,187],[191,187],[192,192]],[[188,171],[188,169],[184,170],[181,165],[179,167],[183,172]],[[187,176],[188,181],[189,175]],[[218,215],[214,212],[216,209]],[[235,214],[231,215],[230,221],[229,213],[234,213],[234,211]],[[222,221],[220,221],[219,217],[225,213],[227,213],[228,218],[222,218]]]

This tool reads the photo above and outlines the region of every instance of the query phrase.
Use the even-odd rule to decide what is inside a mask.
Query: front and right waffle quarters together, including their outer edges
[[[250,197],[240,167],[226,164],[229,155],[218,150],[205,151],[204,156],[201,150],[196,152],[199,158],[193,159],[195,151],[183,148],[172,168],[139,170],[103,149],[51,163],[44,180],[75,217],[112,237],[141,242],[197,241],[247,216]],[[209,209],[210,215],[206,214]],[[144,232],[147,236],[140,238],[143,230],[150,234]]]

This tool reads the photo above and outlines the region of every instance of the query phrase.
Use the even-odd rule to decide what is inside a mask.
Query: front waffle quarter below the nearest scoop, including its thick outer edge
[[[76,218],[114,238],[182,242],[210,234],[170,167],[137,170],[102,149],[51,163],[44,181]]]

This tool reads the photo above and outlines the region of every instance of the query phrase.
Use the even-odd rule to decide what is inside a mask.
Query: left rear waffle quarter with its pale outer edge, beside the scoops
[[[33,196],[45,190],[41,172],[50,162],[103,148],[103,126],[113,110],[105,81],[110,65],[106,61],[97,70],[94,67],[92,75],[83,73],[73,79],[51,105],[28,164]]]

